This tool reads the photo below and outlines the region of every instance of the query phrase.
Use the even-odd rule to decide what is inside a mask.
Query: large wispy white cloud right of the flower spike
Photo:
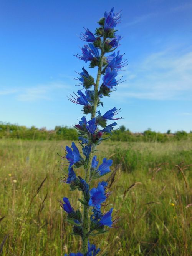
[[[130,66],[129,66],[130,69]],[[150,100],[192,100],[192,52],[165,50],[149,55],[124,74],[116,97]],[[125,88],[127,92],[125,92]],[[122,91],[124,91],[122,93]],[[119,99],[118,99],[119,100]]]

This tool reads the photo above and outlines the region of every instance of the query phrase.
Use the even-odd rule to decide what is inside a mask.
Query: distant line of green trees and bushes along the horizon
[[[104,135],[107,136],[107,135]],[[54,130],[47,130],[46,128],[36,128],[31,126],[13,125],[10,123],[0,122],[0,139],[12,138],[23,140],[77,140],[78,132],[75,128],[69,128],[67,126],[55,126]],[[167,133],[159,133],[152,131],[150,128],[143,133],[132,133],[129,129],[126,130],[124,125],[120,126],[118,130],[113,132],[111,141],[157,141],[166,142],[174,140],[192,140],[192,131],[187,133],[186,131],[177,131],[171,133],[170,130]]]

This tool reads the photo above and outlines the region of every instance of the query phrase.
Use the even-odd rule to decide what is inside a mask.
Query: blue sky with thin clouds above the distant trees
[[[81,106],[67,96],[88,63],[73,55],[83,27],[94,32],[113,6],[123,13],[119,50],[129,65],[101,113],[121,108],[118,125],[134,132],[192,130],[192,2],[185,0],[0,0],[0,121],[51,129],[80,120]]]

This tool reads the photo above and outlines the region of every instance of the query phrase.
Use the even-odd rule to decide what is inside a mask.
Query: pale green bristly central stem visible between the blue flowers
[[[101,50],[101,58],[98,66],[98,73],[97,73],[97,80],[95,84],[95,96],[94,96],[94,103],[93,103],[93,111],[91,114],[91,119],[95,117],[96,110],[97,110],[97,105],[98,105],[98,90],[99,90],[99,82],[101,79],[101,72],[102,72],[102,66],[103,66],[103,60],[104,60],[104,50]],[[85,181],[89,184],[90,186],[90,170],[91,170],[91,160],[92,160],[92,150],[89,155],[89,161],[87,168],[85,170]],[[83,254],[85,254],[88,251],[88,224],[89,224],[89,219],[88,219],[88,209],[89,206],[84,205],[83,206]]]

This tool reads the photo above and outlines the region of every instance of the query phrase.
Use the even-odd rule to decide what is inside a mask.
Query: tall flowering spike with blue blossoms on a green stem
[[[78,59],[84,62],[89,62],[89,67],[98,67],[96,81],[89,75],[88,71],[83,67],[79,77],[76,78],[83,86],[83,90],[78,90],[77,94],[71,95],[70,101],[83,106],[85,115],[91,114],[91,119],[83,116],[79,124],[75,128],[79,133],[79,143],[82,147],[82,153],[78,150],[74,142],[71,148],[66,146],[66,154],[62,156],[64,166],[68,166],[63,181],[70,186],[70,190],[82,191],[83,198],[78,199],[83,208],[74,210],[68,198],[64,197],[60,201],[60,205],[66,211],[69,223],[73,224],[73,234],[79,235],[82,238],[83,246],[81,252],[70,253],[69,256],[94,256],[97,255],[100,249],[96,249],[95,245],[89,243],[89,236],[95,236],[106,232],[106,226],[113,227],[117,219],[112,221],[113,208],[106,213],[102,213],[101,206],[104,204],[110,191],[108,191],[108,183],[100,179],[98,186],[91,188],[93,179],[99,179],[110,172],[110,166],[113,161],[103,158],[99,165],[96,152],[96,146],[103,140],[110,138],[114,126],[117,123],[114,121],[107,125],[108,120],[117,120],[115,116],[119,113],[115,107],[101,114],[97,107],[102,106],[101,98],[109,96],[111,92],[116,90],[119,80],[116,79],[118,71],[127,65],[126,60],[122,60],[123,55],[112,53],[119,46],[121,36],[116,35],[116,25],[120,22],[121,13],[115,13],[114,8],[110,12],[104,12],[104,17],[99,20],[99,28],[93,34],[88,28],[81,33],[81,39],[86,44],[81,48],[82,53],[75,55]],[[100,84],[102,76],[102,83]],[[99,126],[101,128],[99,128]],[[108,133],[108,137],[103,137]],[[78,176],[74,170],[84,168],[84,177]],[[106,206],[104,204],[104,206]],[[65,254],[67,256],[67,254]]]

